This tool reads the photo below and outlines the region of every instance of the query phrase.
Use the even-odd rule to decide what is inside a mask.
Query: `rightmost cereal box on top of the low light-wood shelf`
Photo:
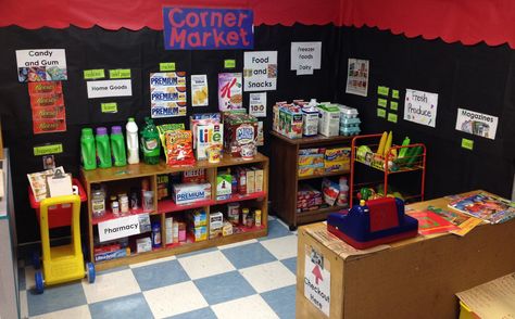
[[[242,153],[255,154],[258,141],[258,119],[249,114],[229,113],[224,115],[224,150],[233,157]]]

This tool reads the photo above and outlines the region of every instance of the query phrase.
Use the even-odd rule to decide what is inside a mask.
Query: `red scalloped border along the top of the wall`
[[[367,25],[406,37],[515,48],[513,0],[3,0],[0,26],[160,30],[163,5],[252,9],[255,25]]]

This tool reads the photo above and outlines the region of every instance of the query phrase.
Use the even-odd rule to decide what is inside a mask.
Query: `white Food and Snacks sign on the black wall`
[[[277,51],[244,52],[243,90],[272,91],[277,86]]]

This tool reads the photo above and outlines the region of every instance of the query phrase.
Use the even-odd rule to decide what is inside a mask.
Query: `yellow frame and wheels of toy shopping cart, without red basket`
[[[50,247],[48,208],[62,204],[72,204],[72,242],[68,245]],[[86,272],[88,281],[95,281],[95,266],[84,264],[80,244],[80,196],[64,195],[45,199],[40,203],[40,231],[42,246],[42,272],[36,271],[36,292],[42,293],[45,285],[53,285],[83,279]]]

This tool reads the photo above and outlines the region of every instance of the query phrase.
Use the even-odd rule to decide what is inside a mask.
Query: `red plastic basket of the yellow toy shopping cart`
[[[73,178],[72,184],[78,188],[78,195],[80,196],[80,202],[86,202],[88,196],[86,195],[86,191],[84,190],[83,186],[78,181],[78,179]],[[38,217],[39,222],[39,202],[36,202],[36,197],[34,197],[33,190],[30,186],[28,187],[28,200],[30,202],[30,207],[36,209],[36,215]],[[62,204],[56,206],[48,207],[48,227],[49,228],[56,228],[63,226],[72,225],[72,204]]]

